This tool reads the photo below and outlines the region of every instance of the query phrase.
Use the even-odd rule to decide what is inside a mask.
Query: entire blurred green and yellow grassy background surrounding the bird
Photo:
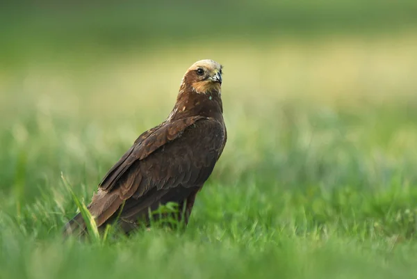
[[[417,2],[0,6],[0,278],[414,278]],[[228,142],[186,232],[63,242],[195,61]]]

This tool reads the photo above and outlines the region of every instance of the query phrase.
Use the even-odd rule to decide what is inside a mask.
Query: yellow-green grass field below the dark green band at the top
[[[3,71],[0,278],[414,278],[416,42],[225,40]],[[63,241],[67,187],[88,203],[206,57],[225,66],[229,141],[188,228]]]

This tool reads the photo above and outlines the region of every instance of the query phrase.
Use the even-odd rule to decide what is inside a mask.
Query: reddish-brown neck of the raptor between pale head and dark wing
[[[220,91],[217,90],[197,93],[193,88],[181,86],[170,118],[175,120],[194,115],[222,118],[223,105],[220,95]]]

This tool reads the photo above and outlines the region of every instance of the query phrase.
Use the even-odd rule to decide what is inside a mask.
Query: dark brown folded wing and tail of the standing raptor
[[[133,224],[159,203],[186,200],[213,171],[224,140],[224,123],[202,116],[164,122],[142,134],[92,198],[88,209],[97,225],[111,221],[124,201],[120,218]]]

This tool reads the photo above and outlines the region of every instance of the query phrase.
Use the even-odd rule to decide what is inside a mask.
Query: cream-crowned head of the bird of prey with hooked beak
[[[222,65],[204,59],[188,68],[182,83],[191,86],[196,93],[220,93],[222,86]]]

